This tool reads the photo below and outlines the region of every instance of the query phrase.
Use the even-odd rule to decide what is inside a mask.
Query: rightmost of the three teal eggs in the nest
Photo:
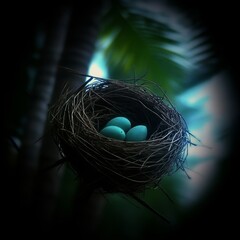
[[[126,141],[144,141],[147,138],[147,127],[145,125],[137,125],[126,133]]]

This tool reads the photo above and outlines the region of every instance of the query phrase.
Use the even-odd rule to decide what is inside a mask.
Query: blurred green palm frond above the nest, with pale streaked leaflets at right
[[[145,76],[171,96],[215,73],[217,59],[204,28],[179,27],[187,22],[184,14],[174,23],[134,2],[114,1],[110,9],[100,39],[108,42],[104,54],[111,77]]]

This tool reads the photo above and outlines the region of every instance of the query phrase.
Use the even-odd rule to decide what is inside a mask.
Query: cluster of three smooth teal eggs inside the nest
[[[102,135],[122,141],[144,141],[147,138],[147,127],[136,125],[132,127],[126,117],[115,117],[107,122],[100,131]]]

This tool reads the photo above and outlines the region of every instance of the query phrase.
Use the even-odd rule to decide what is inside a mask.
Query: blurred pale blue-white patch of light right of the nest
[[[206,196],[218,178],[219,165],[228,154],[228,143],[222,138],[234,121],[233,103],[228,89],[229,76],[219,73],[213,78],[177,97],[181,108],[189,109],[184,118],[189,131],[201,142],[192,138],[197,146],[189,147],[186,171],[191,179],[181,172],[176,176],[179,202],[189,207]]]

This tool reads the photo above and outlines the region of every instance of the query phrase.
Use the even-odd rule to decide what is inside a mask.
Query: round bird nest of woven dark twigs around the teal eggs
[[[116,116],[147,126],[147,139],[128,142],[100,134]],[[187,125],[166,95],[154,94],[145,83],[95,78],[75,92],[65,91],[50,117],[63,158],[96,189],[141,192],[184,170],[190,143]]]

